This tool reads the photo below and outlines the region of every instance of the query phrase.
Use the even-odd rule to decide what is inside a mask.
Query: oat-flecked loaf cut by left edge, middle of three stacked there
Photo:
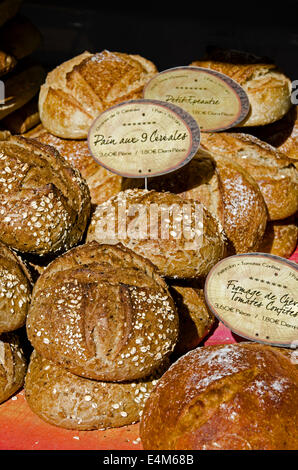
[[[0,334],[24,326],[31,289],[31,276],[22,260],[0,243]]]

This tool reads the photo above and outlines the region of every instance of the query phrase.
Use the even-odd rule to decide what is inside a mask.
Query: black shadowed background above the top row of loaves
[[[298,79],[298,2],[26,1],[21,12],[39,28],[34,54],[53,68],[84,50],[140,54],[160,71],[188,65],[209,44],[272,57]]]

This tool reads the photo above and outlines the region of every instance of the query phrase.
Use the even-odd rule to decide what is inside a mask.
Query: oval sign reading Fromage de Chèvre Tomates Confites
[[[298,265],[278,256],[230,256],[205,283],[208,308],[234,333],[275,346],[298,347]]]

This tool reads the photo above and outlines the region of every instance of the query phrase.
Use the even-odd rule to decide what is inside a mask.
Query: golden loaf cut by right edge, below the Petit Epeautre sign
[[[298,171],[293,161],[269,144],[243,133],[204,133],[202,143],[217,155],[230,157],[258,183],[271,220],[298,210]]]

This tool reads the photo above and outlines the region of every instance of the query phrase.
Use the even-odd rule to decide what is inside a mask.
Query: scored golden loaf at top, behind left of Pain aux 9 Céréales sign
[[[48,74],[39,95],[41,121],[58,137],[85,139],[102,111],[142,98],[156,73],[155,65],[139,55],[84,52]]]

